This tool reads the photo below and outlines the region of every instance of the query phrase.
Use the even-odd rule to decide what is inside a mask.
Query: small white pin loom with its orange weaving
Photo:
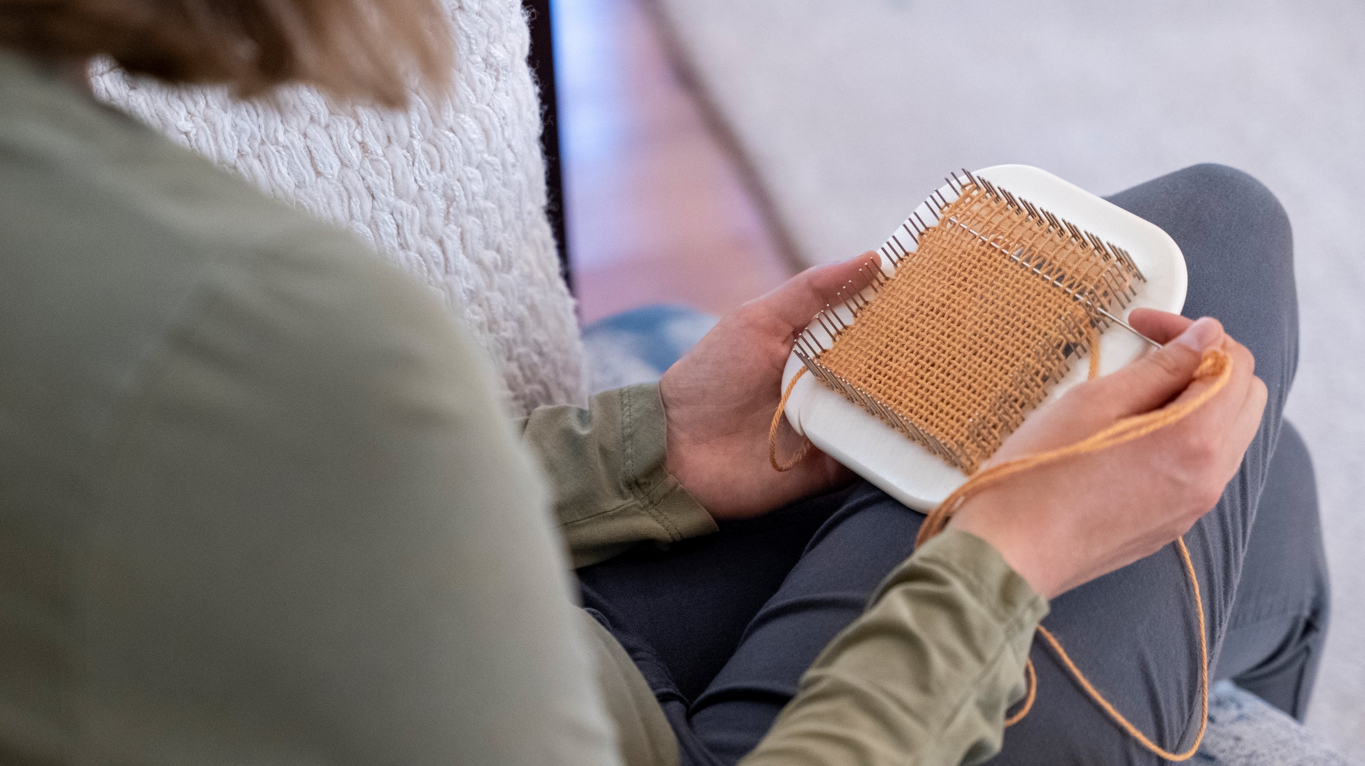
[[[1067,194],[1085,195],[1087,205],[1156,229],[1043,171],[1003,168],[1028,171],[1026,178],[1044,188],[1065,184]],[[803,397],[793,397],[786,414],[797,431],[883,489],[900,485],[902,493],[891,493],[917,508],[932,505],[977,471],[1063,380],[1076,381],[1077,362],[1089,356],[1099,373],[1096,348],[1112,325],[1126,326],[1119,317],[1125,309],[1178,310],[1183,302],[1183,258],[1164,232],[1137,238],[1166,250],[1148,247],[1159,255],[1162,276],[1153,292],[1129,250],[1110,239],[1115,227],[1099,225],[1103,216],[1088,216],[1089,228],[1082,228],[1036,195],[1025,198],[990,180],[992,171],[998,168],[964,171],[965,178],[953,173],[882,247],[882,268],[867,270],[870,285],[822,311],[793,350],[793,360],[822,388],[958,477],[945,482],[939,471],[936,483],[943,489],[920,492],[904,486],[904,478],[889,479],[876,470],[870,475],[860,470],[871,462],[867,448],[859,440],[834,438],[837,429],[803,427],[803,415],[812,410],[809,395],[804,407]],[[1043,176],[1051,180],[1041,182]],[[1065,202],[1066,194],[1058,191],[1058,201]],[[1148,300],[1136,300],[1140,296]],[[1140,354],[1141,344],[1129,347],[1119,362]],[[790,363],[788,373],[784,385],[792,384]],[[812,425],[809,416],[804,421]]]

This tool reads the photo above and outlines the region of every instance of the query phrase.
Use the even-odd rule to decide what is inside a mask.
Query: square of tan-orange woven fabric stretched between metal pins
[[[1107,325],[1095,307],[1121,309],[1136,279],[1122,251],[968,184],[815,371],[972,474],[1089,352]]]

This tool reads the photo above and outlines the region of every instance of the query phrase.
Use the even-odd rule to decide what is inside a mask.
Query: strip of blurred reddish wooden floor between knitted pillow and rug
[[[789,276],[639,0],[554,0],[569,246],[584,324],[721,314]]]

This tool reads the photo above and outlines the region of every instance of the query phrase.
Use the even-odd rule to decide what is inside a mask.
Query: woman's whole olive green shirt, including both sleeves
[[[571,587],[714,530],[663,423],[513,425],[426,289],[0,53],[0,759],[676,763]],[[745,763],[987,758],[1046,609],[942,535]]]

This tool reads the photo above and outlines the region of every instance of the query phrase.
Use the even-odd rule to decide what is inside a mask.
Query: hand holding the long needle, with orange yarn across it
[[[1035,591],[1054,598],[1159,550],[1218,504],[1265,410],[1245,345],[1216,320],[1148,309],[1129,322],[1166,343],[1122,370],[1069,391],[1010,434],[987,464],[1074,444],[1117,421],[1197,396],[1205,350],[1233,359],[1227,386],[1183,419],[1141,438],[1021,471],[969,497],[951,527],[990,542]]]

